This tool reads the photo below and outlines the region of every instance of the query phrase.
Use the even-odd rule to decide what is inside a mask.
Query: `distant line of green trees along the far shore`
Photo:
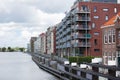
[[[23,47],[1,47],[0,52],[24,52],[25,48]]]

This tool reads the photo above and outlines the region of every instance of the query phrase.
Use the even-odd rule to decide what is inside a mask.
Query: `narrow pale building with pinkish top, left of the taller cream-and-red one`
[[[46,34],[41,33],[39,37],[40,37],[40,53],[46,54]]]

